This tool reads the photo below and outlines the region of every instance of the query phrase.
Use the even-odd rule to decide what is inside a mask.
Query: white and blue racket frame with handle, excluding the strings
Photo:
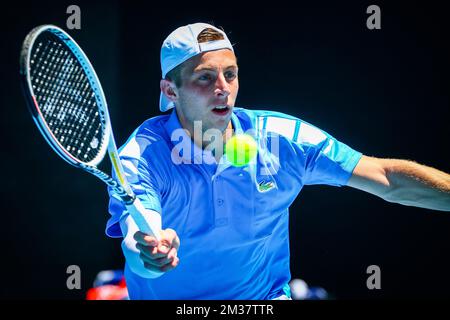
[[[94,91],[95,101],[97,104],[100,122],[103,127],[104,133],[102,136],[100,151],[94,157],[94,159],[89,162],[83,162],[75,158],[61,145],[58,139],[51,132],[36,101],[36,95],[34,93],[30,79],[30,58],[31,49],[33,48],[35,40],[43,32],[53,33],[69,47],[69,49],[75,55],[81,67],[83,68],[83,71],[88,78],[89,84]],[[22,45],[22,50],[20,53],[20,74],[22,89],[25,92],[28,109],[31,112],[36,126],[39,128],[39,131],[42,133],[52,149],[69,164],[93,174],[94,176],[105,182],[108,186],[110,186],[125,203],[127,210],[135,220],[139,229],[159,239],[159,232],[157,231],[161,229],[160,217],[159,221],[158,219],[155,220],[154,217],[153,219],[147,217],[148,219],[152,220],[151,222],[144,217],[143,212],[148,210],[145,209],[139,199],[136,198],[134,192],[131,190],[131,187],[127,182],[114,140],[114,135],[111,128],[111,120],[109,117],[106,98],[102,86],[89,59],[75,42],[75,40],[73,40],[72,37],[68,35],[64,30],[54,25],[41,25],[34,28],[26,36]],[[111,165],[117,179],[113,179],[110,175],[97,168],[97,165],[104,159],[106,152],[108,152]]]

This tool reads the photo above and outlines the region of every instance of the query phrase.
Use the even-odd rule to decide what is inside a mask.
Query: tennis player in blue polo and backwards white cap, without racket
[[[173,31],[161,68],[160,110],[172,111],[145,121],[120,150],[134,192],[149,214],[162,217],[160,241],[141,233],[109,190],[106,233],[124,239],[131,299],[289,299],[288,211],[305,185],[351,186],[450,211],[444,172],[365,156],[294,116],[234,107],[236,56],[212,25]],[[195,138],[208,130],[223,142],[256,132],[256,165],[223,161]]]

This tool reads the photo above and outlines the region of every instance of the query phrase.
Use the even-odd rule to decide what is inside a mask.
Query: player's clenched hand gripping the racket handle
[[[162,230],[159,241],[141,231],[137,231],[133,237],[146,269],[153,272],[167,272],[180,262],[177,256],[180,239],[175,230]]]

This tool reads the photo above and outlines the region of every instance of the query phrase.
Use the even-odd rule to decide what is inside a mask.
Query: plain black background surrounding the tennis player
[[[116,141],[159,114],[159,48],[176,27],[222,26],[240,66],[237,105],[300,117],[367,155],[450,172],[448,12],[441,2],[198,5],[138,1],[16,1],[2,5],[3,299],[83,299],[97,272],[120,269],[120,239],[104,234],[106,188],[63,162],[39,134],[19,86],[19,51],[40,24],[68,30],[89,56]],[[366,28],[381,7],[382,29]],[[67,30],[67,29],[66,29]],[[306,187],[291,207],[291,270],[338,299],[450,298],[450,215],[348,187]],[[66,288],[79,265],[82,289]],[[366,268],[381,268],[381,290]]]

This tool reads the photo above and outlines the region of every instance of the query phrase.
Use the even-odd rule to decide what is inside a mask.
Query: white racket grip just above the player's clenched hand
[[[146,209],[139,198],[135,198],[132,204],[125,206],[140,231],[160,240],[162,222],[158,212]]]

